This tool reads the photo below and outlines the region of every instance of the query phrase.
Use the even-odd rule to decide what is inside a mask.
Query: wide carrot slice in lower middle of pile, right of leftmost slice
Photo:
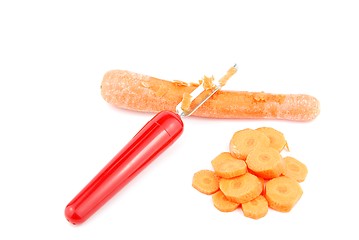
[[[245,203],[261,194],[262,183],[255,175],[245,173],[235,178],[221,178],[219,188],[228,200]]]

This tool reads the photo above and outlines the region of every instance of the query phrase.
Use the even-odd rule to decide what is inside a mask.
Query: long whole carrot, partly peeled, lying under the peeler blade
[[[225,83],[226,79],[223,79]],[[167,81],[126,70],[108,71],[101,83],[102,97],[124,109],[144,112],[175,111],[184,93],[196,84]],[[319,114],[319,101],[306,94],[218,91],[194,116],[310,121]]]

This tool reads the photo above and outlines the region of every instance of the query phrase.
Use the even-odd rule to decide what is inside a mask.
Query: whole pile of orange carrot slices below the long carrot
[[[307,176],[305,164],[282,157],[289,150],[284,135],[270,127],[243,129],[233,134],[229,152],[212,161],[213,170],[193,175],[192,186],[212,196],[222,212],[241,209],[243,215],[260,219],[268,209],[289,212],[303,194],[300,182]]]

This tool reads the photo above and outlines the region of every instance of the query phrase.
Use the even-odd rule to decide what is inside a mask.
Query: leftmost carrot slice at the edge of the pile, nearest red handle
[[[192,186],[199,192],[211,195],[218,191],[218,178],[213,171],[200,170],[193,175]]]

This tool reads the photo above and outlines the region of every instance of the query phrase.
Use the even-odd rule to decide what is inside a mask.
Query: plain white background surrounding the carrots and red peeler
[[[1,1],[0,239],[358,239],[357,1]],[[66,204],[153,114],[109,106],[112,69],[226,89],[306,93],[311,122],[184,120],[181,138],[85,224]],[[269,126],[309,174],[290,213],[217,211],[193,173]],[[314,236],[313,236],[314,235]]]

